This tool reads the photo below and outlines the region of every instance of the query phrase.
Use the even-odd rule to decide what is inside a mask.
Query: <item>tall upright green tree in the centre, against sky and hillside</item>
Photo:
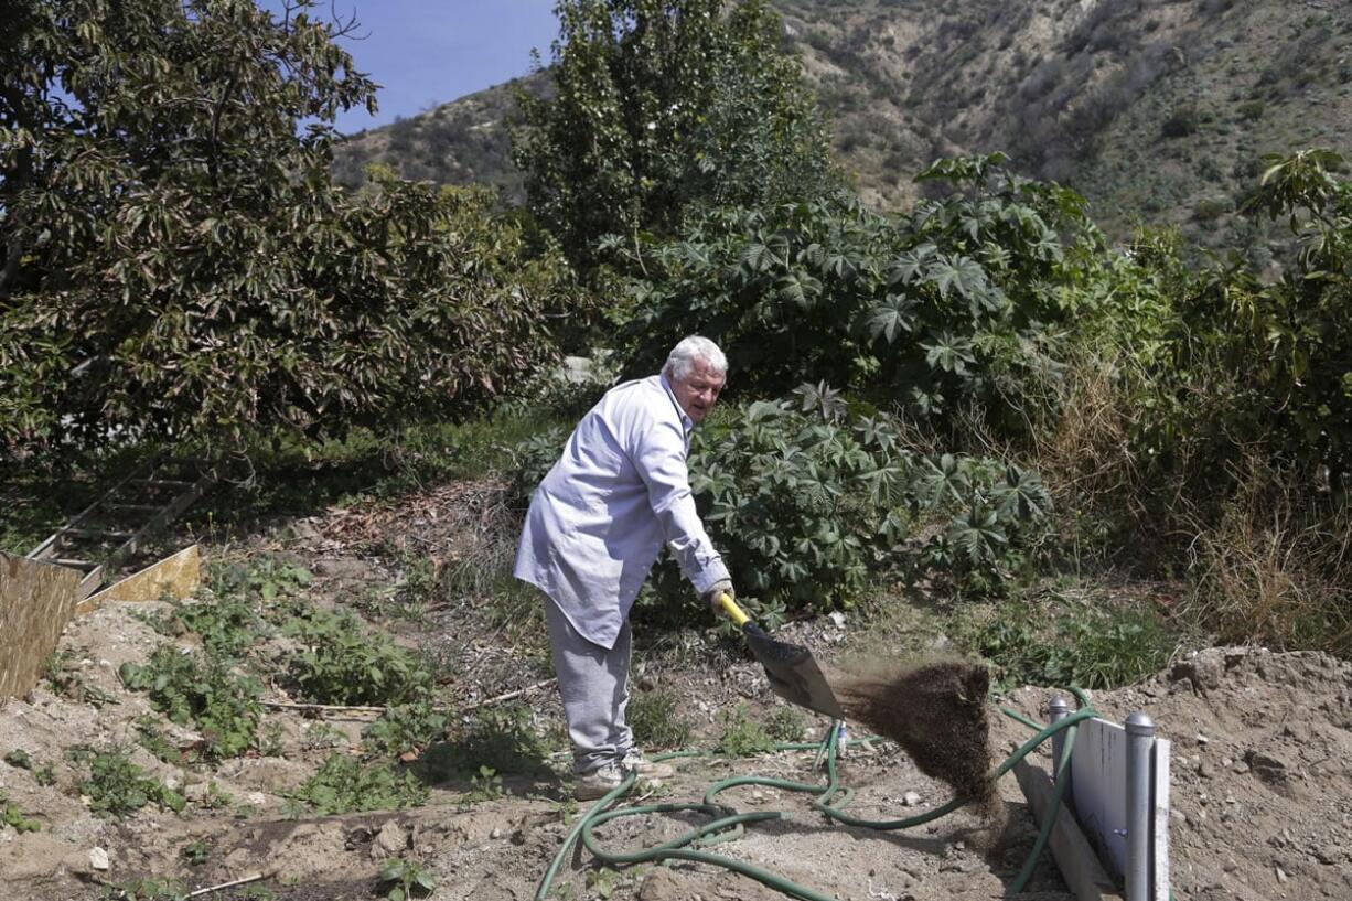
[[[512,157],[571,258],[694,204],[773,206],[838,180],[829,137],[763,0],[561,0],[553,95],[519,101]]]

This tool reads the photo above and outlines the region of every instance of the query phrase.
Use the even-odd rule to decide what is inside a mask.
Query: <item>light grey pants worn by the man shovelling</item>
[[[564,611],[545,597],[549,648],[564,698],[564,718],[579,775],[622,759],[634,747],[625,722],[629,705],[629,621],[610,651],[584,639]]]

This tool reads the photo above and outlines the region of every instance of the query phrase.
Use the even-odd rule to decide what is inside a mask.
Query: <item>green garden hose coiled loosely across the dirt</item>
[[[1069,762],[1071,749],[1075,745],[1075,732],[1079,722],[1098,716],[1094,708],[1090,706],[1088,697],[1079,689],[1071,689],[1075,698],[1079,701],[1080,708],[1053,722],[1052,725],[1042,726],[1019,713],[1010,710],[1007,708],[999,708],[1006,716],[1022,722],[1023,725],[1036,729],[1037,735],[1025,741],[1019,748],[1011,754],[1000,766],[998,766],[992,778],[999,778],[1010,771],[1018,760],[1022,760],[1029,754],[1033,752],[1042,741],[1052,737],[1057,732],[1065,731],[1065,744],[1061,751],[1061,766]],[[882,736],[869,736],[867,739],[853,739],[848,741],[848,745],[861,745],[869,741],[879,741]],[[554,855],[553,862],[549,869],[545,870],[545,875],[539,881],[539,886],[535,890],[535,901],[545,901],[549,896],[550,886],[553,885],[554,877],[558,874],[558,869],[562,862],[568,858],[569,851],[573,844],[581,839],[583,844],[596,856],[600,862],[611,866],[626,866],[633,863],[653,863],[658,860],[695,860],[699,863],[708,863],[713,866],[723,867],[725,870],[731,870],[734,873],[741,873],[742,875],[750,877],[763,885],[767,885],[783,894],[804,898],[806,901],[834,901],[830,896],[825,896],[819,892],[814,892],[807,886],[802,886],[787,877],[779,875],[777,873],[771,873],[754,864],[738,860],[734,858],[727,858],[719,854],[713,854],[700,848],[707,848],[722,841],[730,841],[742,835],[744,827],[748,823],[763,823],[765,820],[780,820],[787,816],[783,810],[760,810],[756,813],[738,813],[733,808],[721,805],[715,801],[719,793],[727,789],[742,786],[742,785],[756,785],[773,789],[783,789],[787,791],[807,791],[815,793],[817,798],[813,801],[813,808],[819,810],[822,814],[850,827],[860,827],[864,829],[879,829],[879,831],[892,831],[892,829],[909,829],[913,827],[923,825],[938,820],[942,816],[952,813],[961,808],[965,801],[963,798],[952,798],[946,804],[934,808],[933,810],[926,810],[925,813],[917,814],[914,817],[906,817],[902,820],[864,820],[860,817],[844,813],[841,808],[850,802],[853,798],[853,790],[841,786],[836,775],[836,755],[838,744],[838,729],[836,724],[831,724],[826,739],[821,744],[810,743],[791,743],[791,744],[777,744],[775,751],[811,751],[818,749],[826,760],[826,785],[819,782],[794,782],[790,779],[772,779],[765,777],[733,777],[730,779],[722,779],[715,782],[704,793],[702,802],[690,804],[649,804],[649,805],[635,805],[627,808],[607,809],[611,804],[623,797],[630,787],[634,785],[634,775],[630,774],[619,786],[612,789],[606,797],[600,798],[594,804],[587,813],[577,818],[573,828],[569,829],[568,835],[564,837],[562,846],[558,848],[558,854]],[[695,756],[708,756],[707,751],[675,751],[671,754],[662,754],[653,758],[653,760],[671,760],[676,758],[695,758]],[[1019,870],[1018,875],[1009,886],[1011,894],[1022,892],[1028,885],[1029,879],[1033,877],[1033,870],[1037,866],[1037,860],[1046,847],[1048,836],[1052,832],[1052,825],[1056,823],[1056,814],[1060,810],[1061,795],[1065,791],[1065,781],[1057,781],[1056,789],[1052,798],[1051,814],[1042,823],[1042,828],[1038,831],[1037,840],[1033,843],[1033,850]],[[618,854],[607,851],[600,847],[592,831],[608,823],[611,820],[618,820],[622,817],[633,816],[646,816],[654,813],[699,813],[708,817],[708,823],[690,832],[677,836],[662,844],[641,848],[638,851],[629,851],[625,854]]]

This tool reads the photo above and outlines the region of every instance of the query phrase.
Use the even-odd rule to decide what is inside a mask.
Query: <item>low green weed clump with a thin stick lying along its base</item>
[[[422,698],[431,674],[387,632],[368,632],[350,613],[304,609],[284,628],[304,649],[292,676],[319,703],[399,705]]]

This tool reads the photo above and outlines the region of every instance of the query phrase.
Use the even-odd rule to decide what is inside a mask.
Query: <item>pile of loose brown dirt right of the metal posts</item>
[[[1048,695],[1023,689],[1014,706],[1041,720]],[[1172,741],[1175,897],[1352,897],[1352,664],[1210,648],[1091,701],[1118,722],[1144,710]],[[1006,722],[1011,743],[1028,737]]]

